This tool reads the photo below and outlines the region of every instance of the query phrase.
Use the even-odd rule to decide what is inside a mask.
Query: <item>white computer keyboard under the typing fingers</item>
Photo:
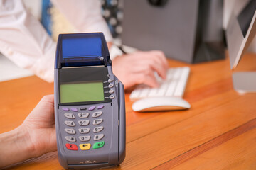
[[[134,89],[129,97],[131,100],[161,96],[182,98],[186,88],[189,72],[189,67],[171,68],[167,71],[167,77],[165,80],[161,79],[158,75],[156,76],[156,79],[160,84],[159,88],[150,88],[148,86],[141,85],[138,86],[137,89]]]

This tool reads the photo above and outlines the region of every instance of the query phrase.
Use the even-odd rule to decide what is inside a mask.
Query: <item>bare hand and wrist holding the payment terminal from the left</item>
[[[0,168],[55,151],[53,95],[44,96],[18,128],[1,134],[0,145]]]

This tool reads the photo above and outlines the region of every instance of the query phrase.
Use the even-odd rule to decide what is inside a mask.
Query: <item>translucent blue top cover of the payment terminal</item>
[[[111,65],[103,33],[60,34],[56,49],[55,69]]]

